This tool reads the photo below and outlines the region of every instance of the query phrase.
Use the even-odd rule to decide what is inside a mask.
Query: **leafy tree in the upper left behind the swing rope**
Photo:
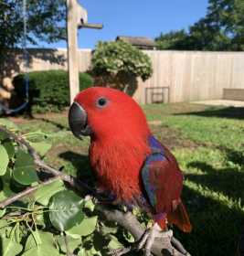
[[[27,0],[26,6],[27,43],[37,45],[39,41],[51,43],[66,38],[65,0]],[[23,1],[0,2],[0,72],[8,71],[4,61],[13,58],[7,49],[19,48],[23,42],[23,11]]]

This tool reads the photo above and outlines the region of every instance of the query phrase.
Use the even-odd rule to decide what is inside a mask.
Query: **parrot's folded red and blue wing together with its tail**
[[[183,175],[169,150],[150,136],[151,155],[145,159],[142,168],[143,197],[151,206],[151,213],[162,229],[165,217],[185,232],[191,230],[191,224],[180,194]],[[145,209],[146,210],[146,209]]]

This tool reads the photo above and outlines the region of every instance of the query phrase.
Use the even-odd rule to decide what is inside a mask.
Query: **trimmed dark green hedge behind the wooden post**
[[[29,78],[28,112],[58,112],[69,106],[68,72],[64,70],[33,71]],[[80,91],[92,86],[93,80],[87,73],[80,73]],[[16,97],[13,105],[19,105],[26,97],[25,75],[14,79]]]

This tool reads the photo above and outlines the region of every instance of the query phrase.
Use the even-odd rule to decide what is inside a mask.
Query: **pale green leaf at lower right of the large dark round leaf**
[[[88,236],[94,232],[98,222],[98,217],[94,216],[91,218],[85,218],[81,221],[79,225],[74,226],[72,229],[67,230],[66,232],[73,237],[76,235],[79,236]]]

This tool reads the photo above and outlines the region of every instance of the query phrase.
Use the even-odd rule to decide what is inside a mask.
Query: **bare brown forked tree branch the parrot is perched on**
[[[39,155],[37,155],[37,152],[35,149],[27,143],[27,141],[21,136],[17,135],[15,133],[12,133],[8,130],[6,130],[4,127],[0,126],[0,132],[7,133],[9,137],[14,139],[20,146],[25,147],[30,155],[34,157],[35,164],[37,167],[48,174],[51,174],[54,176],[53,178],[48,179],[47,181],[41,183],[41,185],[48,185],[49,183],[57,180],[58,178],[62,179],[64,182],[68,183],[70,187],[80,191],[89,192],[92,196],[98,197],[99,194],[89,187],[84,182],[81,182],[77,178],[73,176],[64,175],[57,169],[45,164]],[[28,187],[26,190],[16,194],[14,197],[9,197],[5,199],[5,201],[0,202],[0,208],[4,208],[5,206],[15,202],[16,200],[26,197],[30,193],[37,190],[39,186],[37,187]],[[98,197],[99,198],[99,197]],[[98,210],[101,212],[102,216],[109,220],[109,221],[115,221],[117,222],[122,228],[127,229],[135,238],[135,240],[140,240],[140,238],[143,236],[143,233],[145,232],[145,229],[143,229],[141,223],[136,219],[135,216],[131,212],[122,212],[118,209],[111,209],[108,207],[105,207],[104,205],[98,205]],[[174,246],[172,245],[174,244]],[[184,256],[184,255],[190,255],[182,246],[182,244],[176,240],[174,237],[172,239],[170,238],[162,238],[162,239],[156,239],[154,240],[154,245],[152,249],[154,255],[174,255],[174,256]]]

